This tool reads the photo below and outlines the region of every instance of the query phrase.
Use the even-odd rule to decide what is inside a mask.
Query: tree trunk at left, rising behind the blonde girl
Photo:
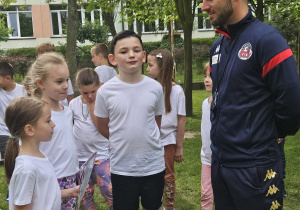
[[[77,1],[68,0],[68,20],[67,20],[67,52],[66,60],[70,71],[71,80],[77,72],[76,41],[79,20],[77,15]]]

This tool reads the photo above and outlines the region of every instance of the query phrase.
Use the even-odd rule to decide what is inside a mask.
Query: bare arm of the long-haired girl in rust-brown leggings
[[[175,161],[180,163],[183,161],[183,139],[185,132],[185,116],[178,116],[178,128],[177,128],[177,141],[176,141],[176,152]]]

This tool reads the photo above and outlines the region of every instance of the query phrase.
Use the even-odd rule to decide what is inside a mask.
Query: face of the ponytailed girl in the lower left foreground
[[[53,128],[55,124],[51,120],[51,111],[49,105],[43,107],[43,114],[37,121],[36,125],[32,126],[34,136],[38,141],[50,141],[52,139]]]

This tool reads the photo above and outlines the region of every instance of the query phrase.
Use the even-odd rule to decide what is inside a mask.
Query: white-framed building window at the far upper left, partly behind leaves
[[[9,38],[33,37],[31,6],[0,8],[6,26],[13,30]]]

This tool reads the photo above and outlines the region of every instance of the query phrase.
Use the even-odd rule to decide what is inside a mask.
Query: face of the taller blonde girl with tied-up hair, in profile
[[[41,87],[43,98],[61,101],[67,97],[69,70],[66,64],[52,65]]]

